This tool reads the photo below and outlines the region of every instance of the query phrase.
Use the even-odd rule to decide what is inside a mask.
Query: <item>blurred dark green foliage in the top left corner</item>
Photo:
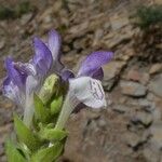
[[[0,5],[0,19],[18,18],[33,10],[35,6],[29,1],[19,2],[14,8]]]

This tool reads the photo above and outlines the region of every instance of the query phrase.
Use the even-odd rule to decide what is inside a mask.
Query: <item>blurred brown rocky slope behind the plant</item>
[[[72,114],[60,162],[162,162],[162,0],[0,0],[0,83],[3,60],[28,60],[31,39],[50,29],[63,38],[63,62],[96,50],[114,52],[104,67],[107,109]],[[0,162],[13,110],[0,92]]]

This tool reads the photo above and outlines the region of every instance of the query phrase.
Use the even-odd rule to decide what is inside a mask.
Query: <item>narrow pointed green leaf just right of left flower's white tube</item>
[[[38,95],[33,95],[35,102],[35,112],[36,117],[43,123],[45,123],[50,119],[50,110],[44,107],[42,100],[38,97]]]

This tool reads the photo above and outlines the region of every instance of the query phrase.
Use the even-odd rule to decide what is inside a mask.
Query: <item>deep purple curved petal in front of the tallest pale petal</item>
[[[39,38],[33,39],[33,45],[36,52],[32,59],[33,65],[36,66],[38,72],[45,75],[53,63],[52,53]]]

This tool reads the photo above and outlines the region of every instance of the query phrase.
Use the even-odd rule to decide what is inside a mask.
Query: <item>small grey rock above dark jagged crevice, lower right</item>
[[[143,124],[149,126],[153,121],[152,114],[145,111],[138,111],[135,117],[132,118],[132,122],[135,124]]]

